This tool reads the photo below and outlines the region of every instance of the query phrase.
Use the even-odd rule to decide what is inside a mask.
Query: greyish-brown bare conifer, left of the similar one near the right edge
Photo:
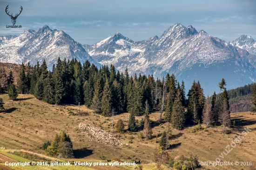
[[[210,98],[208,95],[205,100],[204,108],[202,111],[202,115],[203,115],[202,123],[206,124],[207,126],[209,124],[213,123],[213,111],[212,111],[211,107],[212,107],[212,105],[211,105],[211,101],[210,101]]]

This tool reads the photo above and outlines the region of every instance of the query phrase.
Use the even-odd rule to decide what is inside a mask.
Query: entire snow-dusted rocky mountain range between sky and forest
[[[228,89],[256,81],[256,41],[248,35],[227,43],[203,30],[197,32],[193,26],[175,24],[160,37],[138,42],[115,33],[94,45],[81,45],[48,26],[38,32],[28,29],[20,36],[0,36],[1,62],[26,59],[34,65],[45,59],[51,67],[58,57],[89,60],[98,67],[113,64],[121,72],[128,68],[131,74],[158,78],[173,73],[178,81],[184,80],[187,92],[192,82],[199,80],[209,95],[218,91],[222,77]]]

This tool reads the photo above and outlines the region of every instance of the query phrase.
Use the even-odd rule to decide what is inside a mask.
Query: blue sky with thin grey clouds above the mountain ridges
[[[12,25],[5,13],[23,11]],[[175,23],[228,41],[256,39],[256,0],[0,0],[0,36],[38,31],[44,25],[92,45],[115,33],[134,41],[160,36]]]

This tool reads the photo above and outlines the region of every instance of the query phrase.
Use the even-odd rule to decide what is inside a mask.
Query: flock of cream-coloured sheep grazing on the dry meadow
[[[118,140],[116,137],[108,133],[107,131],[103,131],[101,129],[94,128],[92,126],[86,125],[84,123],[79,124],[79,129],[85,129],[86,135],[89,137],[89,141],[97,141],[98,143],[105,143],[105,144],[112,144],[115,146],[121,146],[128,145],[120,140]]]

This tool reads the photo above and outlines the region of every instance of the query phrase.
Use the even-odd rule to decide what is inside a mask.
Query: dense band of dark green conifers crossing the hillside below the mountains
[[[155,79],[153,75],[129,75],[127,69],[120,73],[114,65],[98,69],[89,61],[81,64],[76,59],[61,61],[59,58],[52,71],[47,71],[45,61],[33,67],[22,64],[17,83],[18,92],[31,93],[49,104],[77,105],[80,102],[103,116],[111,116],[111,110],[128,111],[130,131],[136,129],[135,116],[143,115],[146,110],[160,111],[159,120],[172,123],[176,129],[206,118],[207,124],[212,124],[213,120],[220,122],[224,119],[220,114],[229,114],[224,79],[220,83],[220,92],[223,92],[218,96],[215,93],[213,101],[208,102],[199,81],[192,83],[186,95],[184,82],[178,82],[173,74]]]

